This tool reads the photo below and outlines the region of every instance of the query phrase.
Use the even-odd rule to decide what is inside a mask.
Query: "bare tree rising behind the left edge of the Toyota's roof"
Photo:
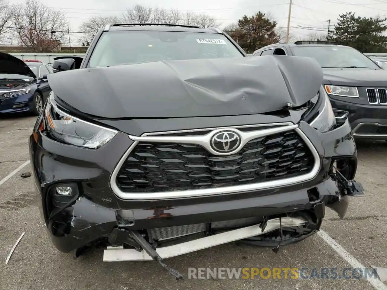
[[[107,24],[122,23],[123,19],[118,16],[96,16],[91,17],[89,20],[83,22],[79,30],[83,31],[84,34],[79,38],[80,42],[85,44],[91,43],[94,36],[97,34],[99,29],[103,28]],[[88,45],[86,45],[88,46]]]

